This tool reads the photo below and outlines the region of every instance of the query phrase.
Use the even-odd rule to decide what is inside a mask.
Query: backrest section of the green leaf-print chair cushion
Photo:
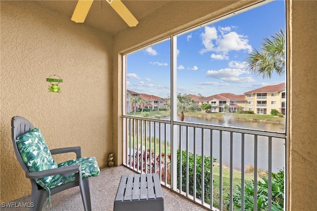
[[[35,127],[17,137],[16,144],[25,165],[31,172],[58,167],[39,128]],[[46,189],[52,179],[53,176],[47,176],[36,179],[36,182]]]

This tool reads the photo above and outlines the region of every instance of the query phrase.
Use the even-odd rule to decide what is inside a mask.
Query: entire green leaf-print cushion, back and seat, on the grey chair
[[[39,128],[35,127],[19,136],[16,143],[24,163],[31,172],[81,164],[82,178],[98,176],[100,173],[95,157],[78,158],[57,165]],[[35,180],[44,189],[52,189],[74,181],[75,174],[73,173],[70,176],[58,174]]]

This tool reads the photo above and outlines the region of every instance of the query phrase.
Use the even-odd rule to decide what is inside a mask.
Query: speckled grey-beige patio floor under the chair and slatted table
[[[90,182],[90,195],[92,211],[113,211],[113,202],[118,184],[123,174],[133,174],[133,170],[124,166],[102,169],[98,177],[92,177]],[[165,211],[208,211],[208,209],[162,187]],[[28,195],[15,203],[30,203],[31,196]],[[83,211],[83,203],[79,187],[65,190],[52,196],[53,211]],[[2,208],[1,211],[28,211],[27,208]],[[50,210],[47,204],[43,211]],[[151,210],[151,209],[149,209]]]

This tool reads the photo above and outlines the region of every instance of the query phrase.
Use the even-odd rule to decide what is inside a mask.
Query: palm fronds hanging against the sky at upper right
[[[260,46],[262,52],[253,49],[246,59],[247,70],[263,78],[271,78],[275,71],[279,76],[285,72],[285,35],[282,30],[271,36],[271,40],[264,38]]]

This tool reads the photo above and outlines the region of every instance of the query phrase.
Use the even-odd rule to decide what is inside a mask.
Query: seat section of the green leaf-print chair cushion
[[[89,158],[78,158],[70,161],[65,161],[58,164],[58,167],[67,167],[81,164],[81,177],[87,178],[91,176],[98,176],[100,174],[100,169],[95,157]],[[68,182],[75,181],[75,174],[70,176],[55,175],[50,183],[50,189],[59,186],[61,184],[66,184]]]

